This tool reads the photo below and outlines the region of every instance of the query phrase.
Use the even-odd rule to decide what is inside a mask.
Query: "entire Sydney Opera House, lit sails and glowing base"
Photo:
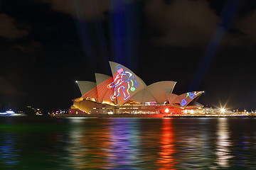
[[[82,96],[73,100],[70,114],[182,114],[203,108],[203,91],[173,94],[176,81],[147,86],[127,67],[110,62],[112,77],[95,74],[96,82],[76,81]]]

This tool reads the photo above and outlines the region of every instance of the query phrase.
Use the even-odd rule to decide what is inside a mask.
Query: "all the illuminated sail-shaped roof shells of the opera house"
[[[178,103],[181,107],[196,101],[203,91],[191,91],[186,94],[172,94],[176,81],[159,81],[146,86],[134,72],[116,62],[110,62],[112,77],[95,73],[96,83],[92,81],[77,81],[82,98],[95,98],[98,103],[113,101],[123,105],[127,101],[145,103],[156,101],[163,104],[166,100],[170,104]]]

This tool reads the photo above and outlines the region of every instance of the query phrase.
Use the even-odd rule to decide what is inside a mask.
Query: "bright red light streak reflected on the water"
[[[161,166],[159,170],[174,169],[176,164],[173,154],[176,152],[174,147],[174,131],[171,124],[172,119],[163,119],[161,126],[161,138],[160,138],[160,152],[159,158],[156,161],[158,166]]]

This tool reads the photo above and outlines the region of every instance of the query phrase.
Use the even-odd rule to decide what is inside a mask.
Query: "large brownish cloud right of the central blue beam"
[[[177,0],[171,4],[160,0],[146,1],[145,12],[151,26],[157,26],[162,33],[154,39],[158,45],[204,45],[213,35],[219,20],[208,1],[204,0]]]

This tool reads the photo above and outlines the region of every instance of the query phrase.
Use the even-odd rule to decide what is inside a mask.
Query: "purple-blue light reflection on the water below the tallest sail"
[[[133,169],[139,165],[139,119],[110,120],[110,148],[107,150],[107,169]]]

